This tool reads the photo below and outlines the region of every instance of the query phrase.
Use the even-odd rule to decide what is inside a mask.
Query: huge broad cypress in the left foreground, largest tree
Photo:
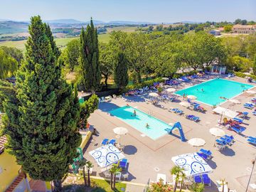
[[[51,44],[40,16],[31,18],[26,61],[18,70],[17,100],[4,103],[4,132],[18,164],[33,179],[53,181],[61,191],[61,179],[77,155],[78,98],[61,78],[57,48]]]

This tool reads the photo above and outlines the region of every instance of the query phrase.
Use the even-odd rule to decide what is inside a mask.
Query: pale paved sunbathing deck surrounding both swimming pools
[[[212,76],[210,78],[216,77]],[[178,85],[178,87],[172,87],[181,89],[206,80],[207,79],[193,80],[193,82],[188,83],[183,82],[182,85]],[[243,78],[233,78],[232,80],[246,82]],[[252,90],[256,90],[256,87]],[[125,124],[120,119],[117,119],[117,117],[113,117],[108,113],[110,110],[122,107],[128,103],[132,107],[137,107],[139,110],[149,113],[168,124],[181,122],[186,139],[200,137],[206,140],[206,145],[203,146],[203,148],[210,149],[210,151],[213,152],[213,159],[208,161],[208,164],[213,169],[213,173],[209,174],[212,183],[210,187],[206,187],[206,191],[218,191],[215,181],[220,180],[220,178],[225,178],[230,189],[245,191],[250,170],[252,168],[251,161],[252,159],[255,159],[256,155],[256,147],[248,144],[246,137],[256,136],[256,117],[252,115],[252,110],[245,109],[242,104],[250,101],[253,95],[244,92],[238,97],[235,97],[235,99],[242,102],[241,105],[233,105],[230,102],[225,102],[223,105],[220,105],[221,107],[226,107],[230,110],[250,112],[248,115],[250,118],[246,119],[245,124],[243,124],[246,127],[246,130],[242,134],[236,134],[233,131],[222,128],[225,130],[226,134],[232,134],[235,137],[235,144],[223,151],[218,151],[213,146],[215,137],[213,137],[209,132],[210,128],[218,125],[218,119],[220,119],[220,115],[213,114],[212,107],[202,104],[202,106],[207,109],[207,112],[203,114],[201,112],[188,110],[186,107],[179,105],[178,102],[162,103],[162,105],[167,109],[170,107],[178,107],[183,110],[185,114],[194,114],[200,117],[201,122],[196,123],[186,119],[185,116],[180,116],[178,114],[168,112],[168,110],[146,103],[145,97],[146,96],[132,96],[112,99],[109,102],[102,102],[100,103],[99,109],[91,115],[89,119],[91,127],[96,128],[100,134],[98,136],[93,136],[90,145],[85,151],[85,159],[92,161],[95,165],[94,171],[96,171],[97,176],[102,176],[102,174],[100,174],[102,169],[97,166],[96,162],[88,152],[99,147],[102,139],[116,138],[112,130],[115,127],[126,127],[129,130],[127,135],[121,137],[121,144],[126,146],[124,148],[124,155],[129,162],[129,181],[132,182],[145,184],[149,179],[151,181],[155,181],[157,174],[166,174],[167,181],[171,182],[172,176],[169,170],[174,166],[174,163],[171,161],[171,157],[177,156],[178,154],[196,152],[195,147],[189,145],[188,142],[181,142],[179,137],[174,137],[173,135],[166,134],[156,140],[152,140],[149,137],[142,137],[142,133],[138,132],[137,129],[130,127],[128,124]],[[179,99],[182,100],[181,97]],[[178,136],[178,130],[176,130],[174,134]],[[117,142],[118,141],[119,139],[117,139]],[[200,147],[198,147],[198,149],[200,149]],[[256,183],[256,169],[252,175],[250,183]],[[249,189],[252,191],[252,188]]]

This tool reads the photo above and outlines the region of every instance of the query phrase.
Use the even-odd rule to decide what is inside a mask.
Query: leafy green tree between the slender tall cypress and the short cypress
[[[107,80],[114,70],[115,53],[111,50],[107,43],[100,43],[100,71],[105,78],[105,85],[107,87]]]

